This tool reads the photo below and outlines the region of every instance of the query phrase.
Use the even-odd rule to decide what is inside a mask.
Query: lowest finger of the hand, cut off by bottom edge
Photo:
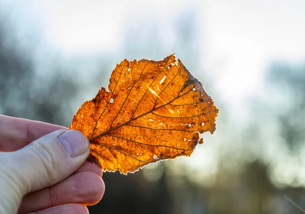
[[[80,203],[68,203],[50,208],[42,209],[32,214],[89,214],[89,211],[85,205]],[[31,214],[29,213],[29,214]]]

